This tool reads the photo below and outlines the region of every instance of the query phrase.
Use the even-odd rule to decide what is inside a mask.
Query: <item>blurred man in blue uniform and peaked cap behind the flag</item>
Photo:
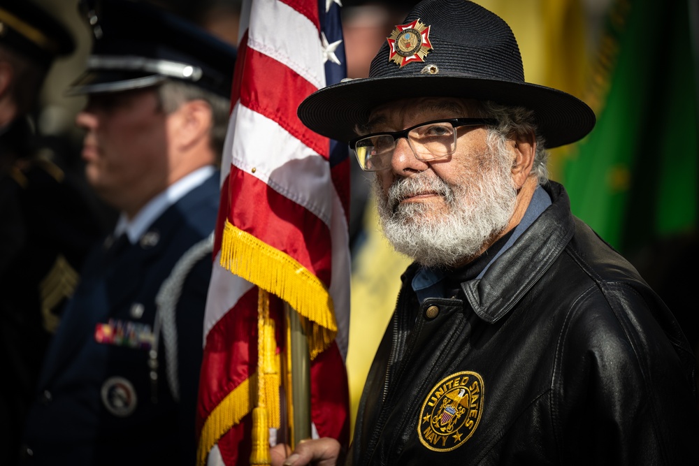
[[[81,3],[87,181],[120,213],[38,382],[36,465],[192,465],[203,315],[236,50],[150,3]]]

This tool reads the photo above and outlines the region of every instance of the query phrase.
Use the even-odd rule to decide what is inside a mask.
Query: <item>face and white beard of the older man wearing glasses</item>
[[[421,110],[411,110],[414,105]],[[477,108],[477,103],[466,99],[405,99],[374,110],[367,127],[412,127],[421,122],[484,112],[484,109],[479,112]],[[503,125],[504,119],[503,112]],[[391,120],[397,126],[388,123]],[[405,141],[401,148],[396,141],[393,156],[400,154],[397,163],[415,175],[396,177],[394,170],[385,169],[380,170],[374,179],[374,194],[384,234],[398,251],[422,265],[454,268],[484,252],[500,235],[519,223],[526,202],[538,184],[537,177],[527,177],[524,171],[524,168],[531,168],[531,157],[524,162],[527,166],[518,170],[517,180],[512,179],[511,154],[503,133],[514,125],[507,123],[509,126],[502,132],[487,133],[480,124],[481,120],[477,120],[456,128],[448,124],[446,131],[461,129],[463,137],[474,141],[473,145],[454,148],[454,153],[450,154],[453,163],[435,162],[431,165],[433,170],[421,170],[416,166],[426,161],[419,161],[413,150],[419,151],[419,141],[435,136],[423,136],[419,134],[421,128],[413,129],[415,136],[411,137],[409,132],[408,138],[401,140]],[[442,123],[423,128],[445,131]],[[525,140],[520,141],[519,147],[531,152],[526,156],[533,155],[534,141],[526,141],[526,134],[523,138]],[[366,139],[357,142],[361,144],[363,140]],[[540,150],[538,155],[542,158],[546,153]],[[382,159],[382,162],[389,163],[389,159]],[[538,160],[535,166],[543,171],[540,177],[546,180],[545,161]]]

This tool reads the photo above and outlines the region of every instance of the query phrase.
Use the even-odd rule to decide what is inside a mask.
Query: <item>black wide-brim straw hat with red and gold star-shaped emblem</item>
[[[546,147],[574,143],[595,125],[575,96],[524,81],[517,40],[497,15],[466,0],[425,0],[371,62],[368,78],[319,89],[298,106],[313,131],[348,142],[377,105],[417,97],[459,97],[533,110]]]

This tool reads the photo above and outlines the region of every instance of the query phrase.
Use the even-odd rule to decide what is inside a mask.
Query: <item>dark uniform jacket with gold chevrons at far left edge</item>
[[[0,132],[0,464],[15,464],[46,347],[101,225],[78,179],[36,156],[25,119]]]

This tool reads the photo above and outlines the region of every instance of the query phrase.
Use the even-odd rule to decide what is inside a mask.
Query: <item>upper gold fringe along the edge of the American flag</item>
[[[226,219],[220,264],[279,296],[298,312],[308,335],[311,360],[335,340],[338,326],[328,289],[288,254],[236,228]]]

